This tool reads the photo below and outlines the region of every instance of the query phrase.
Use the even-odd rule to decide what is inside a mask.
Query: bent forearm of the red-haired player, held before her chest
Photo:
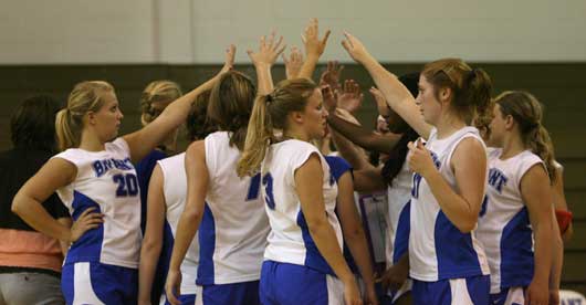
[[[478,222],[478,209],[458,194],[438,170],[431,171],[425,179],[446,217],[461,232],[472,231]]]

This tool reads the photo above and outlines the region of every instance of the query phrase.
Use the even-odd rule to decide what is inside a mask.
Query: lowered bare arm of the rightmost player
[[[529,210],[535,240],[535,270],[526,291],[527,304],[547,304],[552,266],[552,193],[545,168],[535,165],[521,178],[521,197]]]

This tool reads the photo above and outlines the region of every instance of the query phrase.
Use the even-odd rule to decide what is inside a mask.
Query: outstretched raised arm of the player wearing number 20
[[[140,130],[124,136],[124,139],[130,148],[130,158],[133,161],[136,162],[143,159],[157,145],[164,141],[169,133],[172,133],[186,120],[191,109],[191,104],[196,101],[197,96],[211,90],[220,78],[220,75],[232,69],[234,54],[236,46],[231,44],[226,50],[224,65],[216,76],[169,104],[155,120]]]

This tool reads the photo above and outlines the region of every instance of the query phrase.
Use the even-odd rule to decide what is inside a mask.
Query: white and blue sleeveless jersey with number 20
[[[86,231],[71,245],[65,264],[97,262],[137,269],[140,197],[128,144],[117,138],[106,143],[102,151],[70,148],[53,158],[65,159],[77,168],[75,180],[57,189],[73,220],[91,207],[104,214],[97,229]]]

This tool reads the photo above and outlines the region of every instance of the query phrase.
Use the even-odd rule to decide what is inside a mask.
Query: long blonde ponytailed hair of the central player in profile
[[[244,151],[238,161],[240,177],[254,175],[264,159],[266,148],[274,141],[273,129],[286,130],[291,112],[302,112],[317,85],[306,78],[285,80],[269,95],[258,96],[250,116]]]

